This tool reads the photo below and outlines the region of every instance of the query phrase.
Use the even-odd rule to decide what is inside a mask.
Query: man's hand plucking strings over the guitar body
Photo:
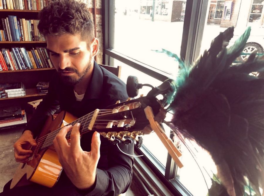
[[[32,150],[28,150],[31,145],[36,146],[37,143],[33,139],[32,132],[26,130],[14,144],[15,159],[17,162],[26,163],[28,161],[28,158],[32,155]]]

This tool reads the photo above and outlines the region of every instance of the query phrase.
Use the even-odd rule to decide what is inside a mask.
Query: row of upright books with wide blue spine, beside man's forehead
[[[2,19],[1,41],[45,41],[38,31],[39,20],[18,19],[8,15]]]

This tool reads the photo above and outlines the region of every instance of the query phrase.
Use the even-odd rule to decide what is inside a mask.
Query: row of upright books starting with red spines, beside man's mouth
[[[24,47],[2,48],[0,71],[52,68],[53,64],[46,48],[36,47],[27,51]]]

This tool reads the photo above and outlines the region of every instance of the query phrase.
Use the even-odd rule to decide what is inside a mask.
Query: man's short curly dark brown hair
[[[38,15],[38,30],[43,36],[80,34],[91,42],[94,38],[93,18],[86,4],[75,0],[56,0],[44,7]]]

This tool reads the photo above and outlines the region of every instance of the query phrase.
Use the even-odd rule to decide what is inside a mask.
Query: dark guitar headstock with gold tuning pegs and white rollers
[[[144,111],[147,106],[152,108],[155,120],[161,123],[166,110],[160,101],[155,97],[141,97],[99,110],[92,129],[116,143],[118,140],[124,143],[130,143],[131,139],[138,140],[139,135],[152,132]]]

